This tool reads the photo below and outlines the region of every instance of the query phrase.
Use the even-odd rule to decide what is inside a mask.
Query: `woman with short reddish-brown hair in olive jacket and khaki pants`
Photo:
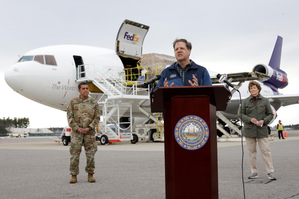
[[[250,96],[243,100],[239,118],[244,122],[243,135],[246,137],[246,144],[249,150],[251,175],[249,178],[258,178],[256,167],[256,142],[268,172],[268,179],[276,180],[272,164],[271,150],[268,142],[268,123],[273,119],[273,112],[267,98],[260,93],[261,86],[256,81],[250,81],[248,90]]]

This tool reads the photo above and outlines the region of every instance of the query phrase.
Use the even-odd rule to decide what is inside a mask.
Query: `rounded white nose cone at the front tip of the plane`
[[[14,64],[5,71],[4,79],[13,90],[19,91],[25,83],[25,70]]]

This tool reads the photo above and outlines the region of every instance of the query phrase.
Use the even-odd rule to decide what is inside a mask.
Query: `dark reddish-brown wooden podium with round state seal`
[[[166,199],[218,199],[216,110],[229,95],[224,86],[154,90],[151,112],[164,113]]]

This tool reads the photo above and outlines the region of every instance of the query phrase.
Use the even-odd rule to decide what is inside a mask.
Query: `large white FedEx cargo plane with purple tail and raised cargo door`
[[[125,20],[116,37],[115,51],[82,45],[55,45],[31,50],[7,69],[5,81],[20,95],[62,111],[66,111],[69,101],[78,96],[79,82],[88,81],[90,88],[95,87],[90,95],[99,103],[118,99],[121,103],[131,104],[131,109],[119,112],[122,121],[131,120],[129,125],[124,125],[124,129],[136,117],[148,121],[148,90],[144,90],[138,82],[132,83],[124,72],[124,69],[136,70],[134,67],[141,57],[143,40],[148,30],[149,26]],[[278,92],[278,88],[283,89],[288,84],[287,73],[280,69],[281,51],[282,37],[278,36],[269,64],[257,64],[252,69],[253,73],[265,76],[260,80],[261,94],[269,99],[275,116],[281,106],[298,104],[299,101],[298,94],[282,95]],[[212,82],[216,83],[217,73],[209,73]],[[234,74],[228,74],[228,78],[231,76]],[[239,87],[242,99],[249,96],[246,80],[235,79],[235,82],[245,81]],[[238,121],[239,95],[235,93],[230,101],[231,104],[222,114],[235,123]],[[143,105],[142,111],[140,104]]]

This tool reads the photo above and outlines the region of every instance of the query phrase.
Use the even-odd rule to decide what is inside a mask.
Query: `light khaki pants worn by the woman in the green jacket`
[[[261,138],[246,137],[246,144],[249,150],[251,173],[253,174],[258,173],[258,169],[256,167],[256,141],[258,141],[259,143],[259,150],[261,152],[264,165],[268,174],[274,172],[268,137],[261,137]]]

